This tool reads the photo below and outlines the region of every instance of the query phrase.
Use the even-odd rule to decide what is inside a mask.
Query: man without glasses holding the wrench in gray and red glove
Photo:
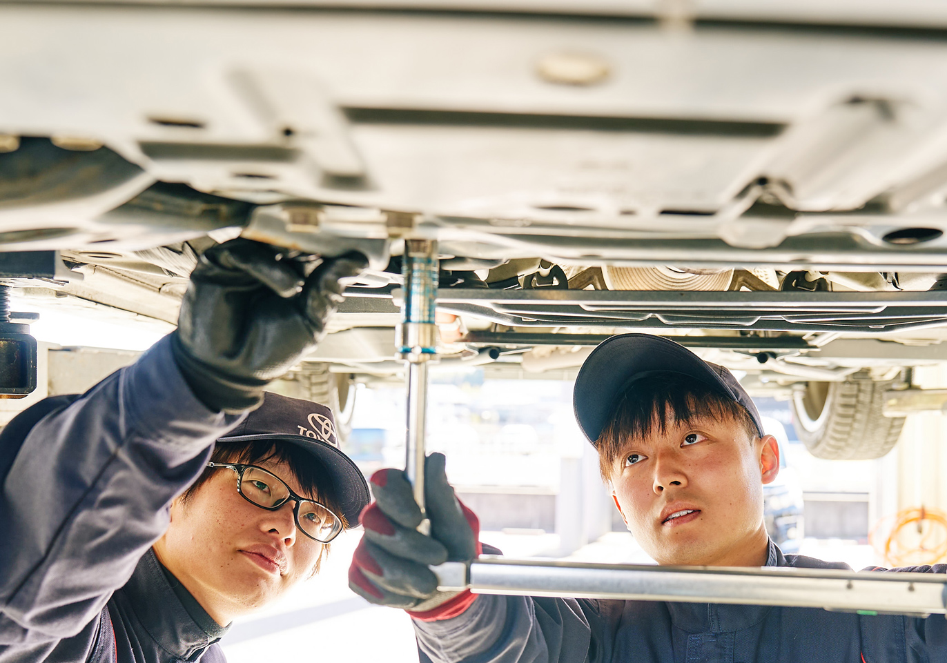
[[[762,485],[779,449],[724,367],[666,338],[614,336],[581,367],[576,418],[599,451],[635,540],[658,564],[849,569],[783,555],[763,527]],[[443,458],[426,468],[429,504],[456,502]],[[376,474],[349,586],[413,618],[422,660],[582,663],[921,663],[947,660],[947,620],[833,613],[810,608],[634,600],[563,600],[445,594],[425,564],[436,551],[412,528],[420,518],[396,471]],[[463,510],[457,506],[457,510]],[[474,542],[444,509],[429,510],[434,543]],[[369,517],[370,516],[370,517]],[[473,544],[471,545],[473,547]],[[470,547],[469,547],[470,549]],[[468,556],[471,557],[472,555]],[[445,558],[461,556],[440,554]],[[947,572],[947,564],[902,571]]]

